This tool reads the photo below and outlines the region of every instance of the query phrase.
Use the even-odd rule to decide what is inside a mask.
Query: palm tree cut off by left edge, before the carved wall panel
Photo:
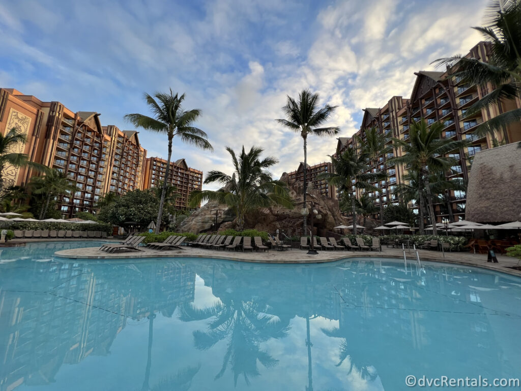
[[[20,168],[29,166],[40,172],[47,170],[47,167],[41,164],[30,162],[26,154],[12,152],[17,144],[25,144],[26,142],[27,136],[22,135],[16,128],[12,128],[5,135],[0,133],[0,198],[3,196],[5,185],[14,185],[8,184],[5,178],[7,167]]]

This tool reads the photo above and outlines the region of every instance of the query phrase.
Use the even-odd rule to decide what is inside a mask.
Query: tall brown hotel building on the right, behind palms
[[[478,43],[470,50],[467,56],[487,60],[489,50],[484,42]],[[441,71],[419,71],[415,72],[416,81],[413,86],[410,99],[401,96],[393,96],[382,108],[364,109],[362,126],[356,133],[357,137],[339,138],[336,154],[341,154],[346,148],[359,150],[358,139],[365,139],[367,129],[376,128],[378,132],[388,137],[387,144],[391,145],[391,137],[407,140],[409,127],[412,120],[424,119],[428,125],[437,121],[444,124],[443,137],[454,140],[468,140],[471,144],[461,150],[452,151],[448,156],[456,159],[457,164],[451,170],[444,173],[448,180],[467,181],[470,166],[476,152],[492,148],[497,144],[508,144],[521,141],[521,124],[516,123],[508,126],[503,132],[491,136],[478,136],[474,133],[476,127],[494,116],[497,116],[514,107],[521,107],[519,99],[509,101],[500,105],[492,105],[481,112],[470,113],[468,108],[476,103],[481,97],[492,91],[492,86],[478,88],[463,83],[460,79],[451,75],[450,70]],[[388,177],[385,180],[375,182],[373,185],[381,189],[369,196],[374,197],[375,206],[382,203],[386,206],[398,202],[395,190],[396,185],[407,182],[404,175],[406,169],[402,165],[392,165],[388,159],[401,156],[402,149],[382,153],[371,162],[372,171],[385,172]],[[362,194],[363,191],[360,192]],[[450,190],[445,194],[439,194],[435,199],[435,214],[437,221],[446,219],[457,220],[464,218],[466,194],[464,191]],[[410,207],[417,213],[417,202],[410,203]],[[378,217],[378,214],[374,217]]]

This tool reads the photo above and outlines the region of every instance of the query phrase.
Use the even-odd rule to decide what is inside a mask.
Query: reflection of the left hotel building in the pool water
[[[195,273],[181,263],[30,265],[21,289],[9,284],[19,268],[0,265],[0,391],[51,383],[64,363],[107,355],[129,319],[171,316],[194,298]]]

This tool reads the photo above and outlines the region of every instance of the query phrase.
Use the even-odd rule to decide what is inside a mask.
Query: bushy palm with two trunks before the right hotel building
[[[450,166],[457,164],[452,157],[443,156],[454,150],[459,150],[467,145],[465,140],[443,139],[444,125],[436,122],[427,125],[425,119],[418,122],[411,121],[409,129],[410,141],[393,138],[394,148],[398,150],[402,148],[403,155],[392,157],[389,161],[392,163],[403,164],[409,169],[418,172],[418,200],[420,208],[419,228],[420,234],[424,233],[424,197],[427,199],[428,211],[432,227],[432,234],[437,235],[436,217],[434,214],[434,206],[432,202],[432,188],[430,186],[430,174],[437,172],[445,172]]]

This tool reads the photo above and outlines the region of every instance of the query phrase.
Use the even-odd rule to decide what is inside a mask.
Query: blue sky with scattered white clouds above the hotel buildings
[[[232,172],[226,146],[261,146],[280,177],[303,161],[299,134],[275,121],[302,89],[338,108],[336,137],[359,129],[365,107],[409,97],[418,70],[480,40],[487,0],[17,0],[0,2],[0,87],[102,125],[151,114],[143,93],[185,93],[213,152],[174,141],[172,159]],[[139,129],[137,129],[139,130]],[[163,135],[139,130],[147,156],[167,156]],[[337,140],[308,139],[308,164],[329,161]],[[205,186],[215,189],[217,186]]]

